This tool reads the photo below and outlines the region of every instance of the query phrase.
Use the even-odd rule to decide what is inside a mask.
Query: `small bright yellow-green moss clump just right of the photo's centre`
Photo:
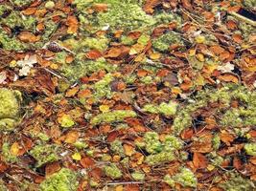
[[[162,102],[159,106],[153,104],[146,104],[143,107],[144,112],[151,114],[163,114],[165,116],[174,116],[176,113],[177,103],[170,101],[169,103]]]

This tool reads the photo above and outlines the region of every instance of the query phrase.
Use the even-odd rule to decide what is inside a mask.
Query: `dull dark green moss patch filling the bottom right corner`
[[[252,181],[244,179],[238,173],[227,173],[226,176],[228,179],[219,184],[225,191],[255,190],[256,188]]]

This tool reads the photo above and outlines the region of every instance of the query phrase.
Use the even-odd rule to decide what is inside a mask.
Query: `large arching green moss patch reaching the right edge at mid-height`
[[[221,126],[243,127],[256,124],[256,93],[249,91],[244,86],[227,84],[218,91],[206,89],[198,92],[195,100],[177,112],[173,126],[175,132],[180,133],[191,126],[192,114],[213,102],[220,102],[223,105],[223,108],[217,111],[218,114],[223,114],[219,121]],[[243,106],[229,109],[232,100],[242,101]]]

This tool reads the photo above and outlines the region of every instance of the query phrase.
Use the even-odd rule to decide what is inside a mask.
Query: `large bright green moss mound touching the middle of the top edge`
[[[138,5],[120,1],[113,2],[108,11],[100,12],[97,17],[100,26],[109,25],[112,31],[145,30],[155,23]]]

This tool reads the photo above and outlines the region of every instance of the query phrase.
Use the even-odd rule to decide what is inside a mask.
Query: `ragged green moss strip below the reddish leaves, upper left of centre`
[[[74,64],[65,64],[60,68],[60,71],[70,81],[74,82],[87,74],[98,73],[99,71],[113,72],[116,68],[116,65],[107,63],[104,58],[96,61],[85,61],[78,56]]]

